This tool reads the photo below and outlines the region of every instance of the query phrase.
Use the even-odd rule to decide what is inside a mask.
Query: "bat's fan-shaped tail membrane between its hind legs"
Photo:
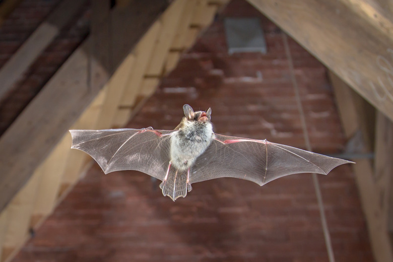
[[[170,197],[173,201],[187,195],[187,170],[180,171],[171,166],[167,179],[160,184],[162,194]]]

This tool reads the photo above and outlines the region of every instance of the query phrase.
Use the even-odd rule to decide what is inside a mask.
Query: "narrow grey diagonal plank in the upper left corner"
[[[14,87],[35,59],[59,34],[61,28],[69,23],[86,2],[87,0],[63,0],[3,65],[0,70],[0,98]]]

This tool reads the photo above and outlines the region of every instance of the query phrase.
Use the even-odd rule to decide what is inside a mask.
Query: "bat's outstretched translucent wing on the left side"
[[[105,174],[138,170],[163,180],[170,161],[173,130],[104,129],[70,130],[72,148],[88,153]]]

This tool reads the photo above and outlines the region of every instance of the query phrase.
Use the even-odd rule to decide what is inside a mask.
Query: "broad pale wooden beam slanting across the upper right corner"
[[[381,14],[376,10],[366,17],[347,0],[248,2],[393,119],[393,25],[389,20],[378,24],[381,21],[375,17]]]

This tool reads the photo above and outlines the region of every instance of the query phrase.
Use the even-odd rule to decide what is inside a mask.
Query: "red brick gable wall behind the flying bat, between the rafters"
[[[222,19],[235,15],[260,17],[268,54],[227,54]],[[234,0],[128,127],[172,129],[189,103],[212,107],[217,133],[304,148],[282,34]],[[345,141],[326,70],[289,45],[312,147],[339,152]],[[351,166],[318,178],[336,261],[372,261]],[[176,202],[158,184],[94,165],[14,261],[328,261],[309,174],[263,187],[231,178],[195,183]]]

